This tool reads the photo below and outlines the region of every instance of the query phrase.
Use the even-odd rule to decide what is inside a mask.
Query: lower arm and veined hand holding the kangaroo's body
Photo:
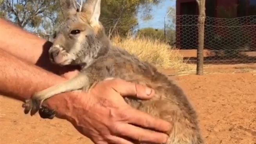
[[[1,49],[0,74],[0,94],[11,95],[20,100],[66,81],[63,77],[25,63]],[[163,143],[167,135],[132,124],[159,131],[168,131],[169,124],[131,108],[118,94],[119,92],[122,95],[137,94],[141,98],[152,97],[152,94],[146,95],[145,91],[145,87],[122,80],[103,81],[87,94],[81,91],[58,94],[48,99],[46,104],[50,109],[56,110],[58,117],[70,121],[77,130],[96,144],[132,144],[121,138],[122,136]]]

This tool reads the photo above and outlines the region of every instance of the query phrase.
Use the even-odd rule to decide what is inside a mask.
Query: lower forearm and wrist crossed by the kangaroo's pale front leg
[[[27,64],[15,58],[4,50],[0,49],[0,94],[24,100],[31,97],[34,92],[38,92],[66,79],[46,70]],[[71,98],[75,93],[69,92],[65,96],[52,97],[47,100],[47,105],[51,109],[56,109],[59,115],[64,115]]]

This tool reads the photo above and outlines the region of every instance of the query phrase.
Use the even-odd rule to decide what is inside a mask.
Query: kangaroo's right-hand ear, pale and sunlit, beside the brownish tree
[[[87,0],[83,4],[82,13],[88,18],[92,27],[99,25],[99,16],[101,14],[101,0]]]

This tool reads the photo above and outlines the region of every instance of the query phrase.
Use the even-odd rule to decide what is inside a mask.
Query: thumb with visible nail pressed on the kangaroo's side
[[[150,99],[155,94],[155,91],[147,86],[124,81],[123,79],[110,79],[106,81],[122,96],[135,96],[140,99]]]

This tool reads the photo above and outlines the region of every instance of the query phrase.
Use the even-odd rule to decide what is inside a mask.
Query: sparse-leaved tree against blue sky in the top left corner
[[[0,11],[2,17],[28,31],[38,27],[50,31],[60,17],[58,0],[2,0]]]

